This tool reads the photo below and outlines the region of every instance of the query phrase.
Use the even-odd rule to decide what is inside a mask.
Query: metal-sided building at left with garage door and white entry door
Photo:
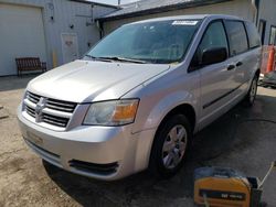
[[[47,68],[82,56],[99,40],[95,19],[117,9],[81,0],[0,0],[0,76],[15,75],[15,57]]]

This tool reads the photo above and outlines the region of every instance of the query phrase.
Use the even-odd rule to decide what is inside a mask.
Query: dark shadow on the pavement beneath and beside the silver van
[[[74,175],[45,162],[43,164],[49,176],[83,206],[193,206],[193,171],[197,167],[221,165],[258,176],[264,174],[264,171],[252,170],[255,165],[262,167],[264,159],[267,160],[267,155],[262,155],[262,152],[272,150],[267,148],[273,144],[264,146],[259,144],[261,139],[272,139],[264,138],[262,130],[275,128],[272,123],[261,121],[261,124],[259,120],[255,120],[266,113],[272,118],[275,117],[266,111],[264,102],[275,105],[276,101],[269,96],[258,96],[253,109],[246,109],[240,103],[198,133],[184,167],[169,179],[159,181],[142,172],[121,181],[107,183]],[[255,130],[259,126],[261,129]],[[255,150],[257,145],[264,150],[258,152]],[[255,152],[259,153],[259,157],[250,159],[248,156],[255,155]],[[254,160],[254,164],[248,162],[248,159]]]

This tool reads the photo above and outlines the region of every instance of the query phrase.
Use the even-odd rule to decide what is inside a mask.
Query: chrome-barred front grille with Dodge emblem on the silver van
[[[65,129],[73,116],[77,103],[42,97],[28,91],[24,99],[24,110],[28,116],[35,118],[38,123],[46,123]]]

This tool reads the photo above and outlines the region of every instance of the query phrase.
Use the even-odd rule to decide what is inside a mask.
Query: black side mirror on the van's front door
[[[227,58],[226,47],[206,48],[202,53],[202,66],[224,62]]]

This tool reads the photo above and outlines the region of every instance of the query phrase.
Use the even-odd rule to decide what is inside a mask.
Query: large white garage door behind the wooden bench
[[[15,57],[46,61],[42,10],[0,3],[0,76],[15,75]]]

